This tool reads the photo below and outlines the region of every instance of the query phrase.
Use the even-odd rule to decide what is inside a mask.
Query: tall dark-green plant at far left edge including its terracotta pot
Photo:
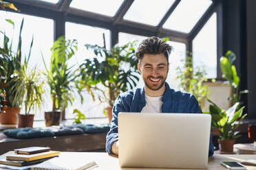
[[[10,21],[10,23],[12,23]],[[12,23],[14,24],[14,23]],[[19,29],[19,40],[17,52],[15,53],[12,50],[12,41],[10,38],[3,34],[3,47],[0,47],[0,76],[1,82],[5,84],[2,89],[2,94],[4,97],[4,108],[0,114],[0,123],[1,124],[16,124],[16,114],[19,113],[19,106],[22,103],[22,99],[15,98],[13,94],[19,93],[19,89],[12,89],[14,84],[14,79],[17,77],[15,71],[21,71],[21,32],[23,28],[23,20],[21,21],[21,27]],[[32,48],[32,42],[30,45],[30,51]]]

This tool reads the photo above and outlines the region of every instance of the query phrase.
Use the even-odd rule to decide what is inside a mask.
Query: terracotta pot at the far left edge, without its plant
[[[14,125],[17,123],[16,114],[19,113],[19,108],[4,108],[0,113],[0,124]]]

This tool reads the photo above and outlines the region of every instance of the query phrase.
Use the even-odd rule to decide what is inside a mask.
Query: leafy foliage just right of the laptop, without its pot
[[[242,115],[244,106],[236,111],[237,106],[239,106],[239,102],[237,102],[228,110],[222,110],[213,101],[209,100],[209,102],[211,103],[209,112],[205,113],[211,114],[211,125],[216,128],[216,135],[220,136],[222,140],[235,139],[241,136],[238,134],[237,127],[247,115]]]

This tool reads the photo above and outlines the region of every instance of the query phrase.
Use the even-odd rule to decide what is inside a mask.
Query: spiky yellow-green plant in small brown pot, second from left
[[[29,60],[29,58],[28,58]],[[14,99],[24,99],[25,114],[17,114],[18,127],[33,127],[34,114],[32,110],[39,108],[43,102],[43,80],[41,73],[36,68],[28,69],[28,60],[21,66],[21,71],[17,71],[12,89],[18,89],[19,93],[12,94]]]

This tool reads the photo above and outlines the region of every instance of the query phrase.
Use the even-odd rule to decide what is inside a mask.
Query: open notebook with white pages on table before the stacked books
[[[84,157],[70,158],[69,154],[60,155],[39,165],[34,165],[31,170],[84,170],[98,167],[95,161],[87,160]]]

